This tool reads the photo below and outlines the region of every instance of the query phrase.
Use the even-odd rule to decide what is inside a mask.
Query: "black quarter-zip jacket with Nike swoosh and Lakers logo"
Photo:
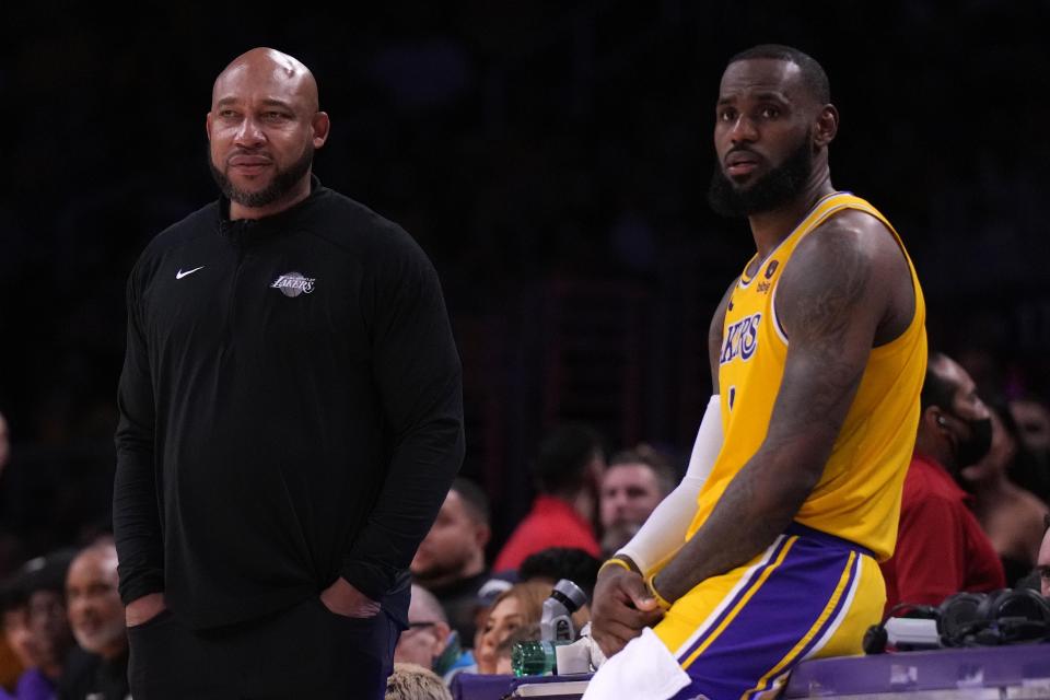
[[[120,593],[202,629],[338,576],[402,621],[408,565],[463,462],[460,364],[430,260],[320,186],[220,199],[128,280],[114,533]]]

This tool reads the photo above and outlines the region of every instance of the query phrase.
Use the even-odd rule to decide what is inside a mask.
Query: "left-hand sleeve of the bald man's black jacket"
[[[127,288],[128,337],[117,394],[117,468],[113,489],[113,532],[125,605],[164,590],[164,551],[158,512],[154,458],[154,401],[138,290],[137,270]]]

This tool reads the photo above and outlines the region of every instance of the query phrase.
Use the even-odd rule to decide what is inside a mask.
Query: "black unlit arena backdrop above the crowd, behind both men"
[[[106,527],[125,279],[214,198],[211,84],[258,45],[317,75],[322,180],[438,267],[466,370],[464,474],[495,502],[497,544],[558,422],[688,453],[709,317],[754,252],[705,203],[713,104],[756,43],[825,66],[833,183],[903,235],[931,345],[985,398],[1048,398],[1046,1],[178,4],[4,9],[0,572]]]

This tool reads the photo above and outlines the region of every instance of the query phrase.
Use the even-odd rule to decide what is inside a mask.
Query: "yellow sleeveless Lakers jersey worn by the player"
[[[915,312],[903,334],[872,349],[824,475],[795,521],[866,547],[879,560],[892,553],[926,371],[925,304],[900,236],[874,207],[849,192],[833,192],[817,202],[754,276],[748,277],[745,267],[732,292],[719,358],[724,441],[698,497],[687,538],[708,518],[726,486],[766,439],[790,341],[777,320],[777,282],[798,242],[843,209],[867,212],[892,232],[911,270]]]

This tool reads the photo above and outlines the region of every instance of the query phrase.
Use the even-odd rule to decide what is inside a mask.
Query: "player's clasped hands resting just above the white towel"
[[[642,576],[622,567],[606,567],[594,585],[591,637],[606,657],[664,616]]]

